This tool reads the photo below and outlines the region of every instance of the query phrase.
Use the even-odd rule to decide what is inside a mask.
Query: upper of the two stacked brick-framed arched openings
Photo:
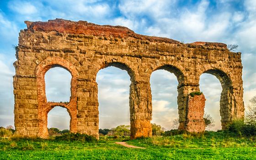
[[[59,66],[53,66],[45,73],[45,94],[47,101],[69,102],[71,74]]]

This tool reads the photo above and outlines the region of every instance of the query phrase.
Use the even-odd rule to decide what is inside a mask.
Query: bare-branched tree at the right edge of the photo
[[[252,97],[245,110],[245,123],[256,124],[256,96]]]

